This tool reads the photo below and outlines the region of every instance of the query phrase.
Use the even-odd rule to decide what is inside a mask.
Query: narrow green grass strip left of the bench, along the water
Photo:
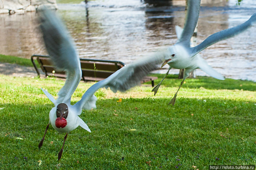
[[[6,56],[6,55],[2,55],[2,54],[0,54],[0,62],[33,67],[33,64],[30,59],[20,58],[20,57],[15,57],[15,56]],[[36,66],[40,68],[37,61],[35,63],[36,63]]]

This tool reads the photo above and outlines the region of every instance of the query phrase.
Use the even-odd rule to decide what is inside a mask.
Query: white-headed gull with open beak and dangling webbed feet
[[[234,35],[241,33],[242,31],[250,27],[256,20],[256,13],[254,13],[251,16],[251,18],[243,24],[214,33],[207,37],[199,45],[190,47],[190,39],[196,27],[196,23],[199,16],[199,10],[200,0],[188,0],[188,10],[185,19],[184,29],[182,30],[182,28],[180,28],[179,26],[175,27],[178,41],[173,46],[167,48],[166,53],[169,53],[169,55],[165,55],[165,59],[161,65],[161,67],[163,67],[165,64],[168,64],[169,69],[165,74],[164,78],[161,80],[161,82],[159,82],[152,90],[152,92],[154,92],[155,95],[171,68],[185,69],[183,80],[174,97],[169,102],[169,104],[172,105],[175,104],[177,93],[181,88],[184,80],[189,76],[189,73],[194,69],[200,68],[202,71],[204,71],[205,73],[214,78],[217,78],[219,80],[225,80],[224,76],[222,76],[220,73],[212,69],[212,67],[208,65],[206,60],[204,60],[197,54],[216,42],[233,37]]]

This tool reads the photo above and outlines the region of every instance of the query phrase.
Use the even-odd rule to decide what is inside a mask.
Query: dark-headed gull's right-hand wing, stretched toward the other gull
[[[99,88],[110,87],[113,92],[117,92],[118,90],[124,92],[136,86],[137,84],[140,84],[140,80],[150,71],[156,70],[158,65],[164,60],[164,56],[167,54],[168,53],[166,51],[156,52],[149,57],[144,57],[135,61],[134,63],[122,67],[108,78],[93,84],[85,92],[82,99],[78,101],[74,106],[77,107],[77,109],[80,111],[87,103],[87,101],[91,100],[91,97],[93,97],[93,94]]]

